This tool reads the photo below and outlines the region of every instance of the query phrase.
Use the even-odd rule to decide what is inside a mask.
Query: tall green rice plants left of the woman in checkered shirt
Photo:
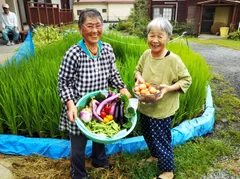
[[[76,34],[71,34],[68,43],[64,43],[65,38],[62,43],[42,46],[35,58],[2,67],[0,118],[7,126],[5,132],[40,137],[62,135],[58,130],[62,104],[57,73],[64,53],[76,39]]]

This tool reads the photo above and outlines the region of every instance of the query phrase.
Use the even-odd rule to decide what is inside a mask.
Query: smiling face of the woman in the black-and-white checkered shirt
[[[87,45],[97,44],[103,33],[103,24],[97,17],[87,18],[79,28]]]

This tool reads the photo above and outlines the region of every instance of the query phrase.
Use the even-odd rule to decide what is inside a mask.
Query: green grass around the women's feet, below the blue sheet
[[[197,179],[210,171],[217,157],[230,155],[231,147],[224,141],[198,138],[174,148],[176,172],[175,179]],[[110,157],[115,159],[113,171],[91,169],[90,178],[93,179],[152,179],[158,175],[157,163],[140,163],[142,159],[150,156],[148,150],[139,151],[135,154],[116,154]]]

